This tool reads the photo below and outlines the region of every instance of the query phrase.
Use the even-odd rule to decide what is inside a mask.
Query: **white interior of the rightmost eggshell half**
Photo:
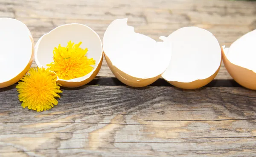
[[[232,43],[226,56],[231,63],[256,72],[256,29]]]

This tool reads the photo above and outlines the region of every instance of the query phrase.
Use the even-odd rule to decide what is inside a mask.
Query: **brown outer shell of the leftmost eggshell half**
[[[3,82],[3,83],[0,83],[0,88],[4,88],[4,87],[8,87],[8,86],[11,86],[15,83],[17,83],[22,77],[24,77],[24,75],[29,71],[31,65],[32,65],[32,62],[34,60],[34,51],[35,51],[35,46],[34,46],[34,40],[31,36],[30,37],[30,40],[32,42],[32,54],[31,54],[31,57],[30,57],[30,60],[29,60],[29,63],[27,64],[27,66],[23,69],[23,71],[20,72],[20,74],[18,74],[16,77],[12,78],[11,80],[9,81],[6,81],[6,82]]]

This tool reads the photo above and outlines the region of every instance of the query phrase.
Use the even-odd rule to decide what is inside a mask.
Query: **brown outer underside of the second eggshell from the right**
[[[169,82],[171,85],[177,87],[177,88],[182,88],[182,89],[197,89],[197,88],[201,88],[205,85],[207,85],[208,83],[210,83],[218,74],[218,71],[221,68],[221,64],[218,68],[217,71],[215,71],[214,74],[212,74],[212,76],[204,79],[204,80],[195,80],[189,83],[183,83],[183,82],[177,82],[177,81],[167,81]]]

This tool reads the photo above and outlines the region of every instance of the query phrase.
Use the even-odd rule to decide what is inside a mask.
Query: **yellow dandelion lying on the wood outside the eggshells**
[[[56,81],[57,76],[49,69],[30,68],[16,86],[19,100],[23,102],[21,106],[39,112],[57,105],[58,101],[55,97],[60,97],[57,93],[62,91]]]

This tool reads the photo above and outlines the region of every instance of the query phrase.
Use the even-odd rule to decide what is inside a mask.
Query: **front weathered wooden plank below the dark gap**
[[[256,93],[244,88],[63,89],[49,111],[0,89],[0,156],[253,157]],[[152,94],[154,93],[154,94]]]

